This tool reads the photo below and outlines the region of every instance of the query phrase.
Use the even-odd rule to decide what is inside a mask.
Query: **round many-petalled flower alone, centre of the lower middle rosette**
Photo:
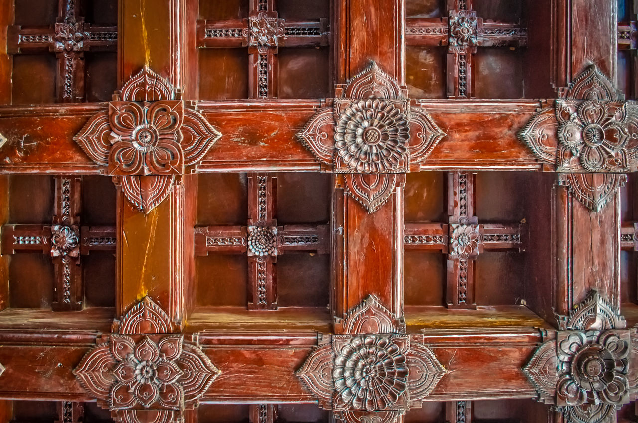
[[[336,396],[347,408],[392,408],[407,388],[406,356],[390,337],[353,337],[338,351],[332,377]]]

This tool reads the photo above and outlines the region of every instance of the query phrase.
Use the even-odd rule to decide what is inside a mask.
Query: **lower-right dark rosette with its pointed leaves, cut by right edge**
[[[559,330],[541,344],[523,368],[538,399],[556,404],[567,422],[611,421],[616,408],[638,393],[635,330],[597,291],[568,316],[557,316]]]

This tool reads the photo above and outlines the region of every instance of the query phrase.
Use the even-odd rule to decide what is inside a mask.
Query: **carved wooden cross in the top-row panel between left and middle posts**
[[[197,42],[205,48],[248,47],[249,98],[276,98],[278,47],[327,46],[330,32],[327,19],[278,19],[274,0],[251,0],[248,19],[199,20]]]

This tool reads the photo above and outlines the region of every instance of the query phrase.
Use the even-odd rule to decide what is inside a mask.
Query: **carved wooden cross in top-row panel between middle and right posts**
[[[472,55],[477,47],[524,47],[527,29],[477,18],[473,0],[447,0],[448,17],[406,19],[406,45],[447,45],[447,96],[473,96]]]

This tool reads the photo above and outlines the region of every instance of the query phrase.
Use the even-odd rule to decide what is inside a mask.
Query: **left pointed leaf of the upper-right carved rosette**
[[[554,106],[539,109],[516,135],[545,164],[556,165],[558,119]]]

